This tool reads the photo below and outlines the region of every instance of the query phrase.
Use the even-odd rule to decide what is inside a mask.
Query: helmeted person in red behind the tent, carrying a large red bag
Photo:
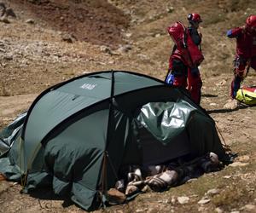
[[[190,38],[201,52],[201,33],[198,32],[202,22],[200,14],[188,14],[189,26],[187,27]],[[170,32],[169,32],[170,33]],[[194,44],[193,44],[194,45]],[[186,48],[186,47],[185,47]],[[175,44],[172,49],[172,55],[169,59],[168,75],[166,83],[174,86],[180,86],[189,90],[191,98],[195,103],[200,105],[201,102],[201,75],[198,66],[200,63],[193,63],[193,52],[189,52],[189,57],[185,58],[181,49]]]

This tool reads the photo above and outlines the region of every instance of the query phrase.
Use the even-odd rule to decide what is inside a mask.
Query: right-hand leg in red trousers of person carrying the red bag
[[[189,81],[189,93],[191,95],[191,98],[193,101],[195,101],[196,104],[200,105],[201,87],[202,87],[200,72],[198,71],[198,72],[192,73],[191,69],[189,68],[188,81]]]

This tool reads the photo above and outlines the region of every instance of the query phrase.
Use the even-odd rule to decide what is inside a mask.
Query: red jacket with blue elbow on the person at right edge
[[[242,27],[227,32],[228,37],[236,37],[236,55],[244,59],[256,56],[256,32],[249,33]]]

